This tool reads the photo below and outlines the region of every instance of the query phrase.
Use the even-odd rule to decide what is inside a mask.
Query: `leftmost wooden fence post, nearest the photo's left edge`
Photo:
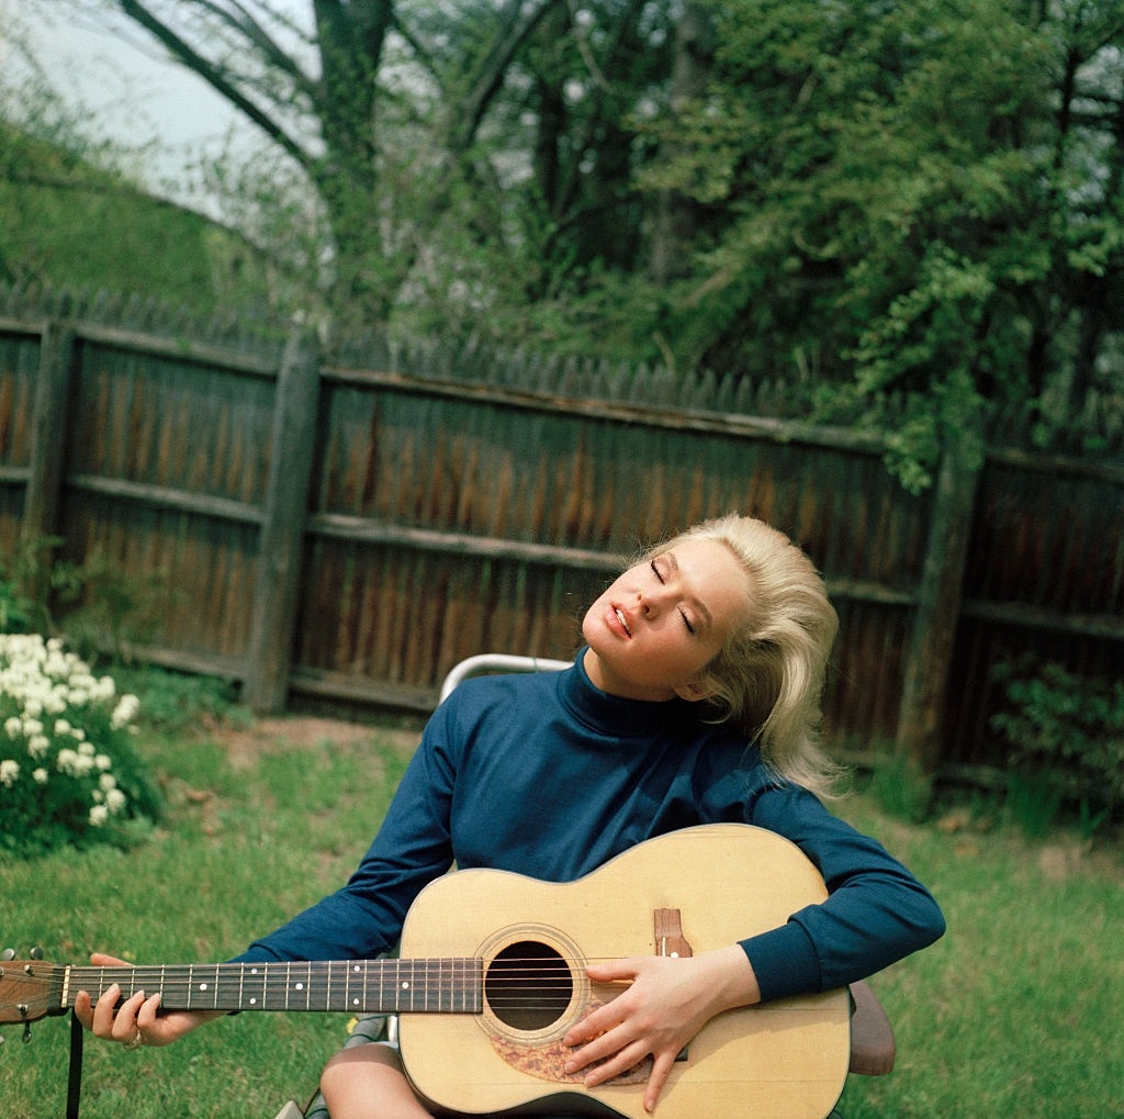
[[[20,523],[20,539],[25,548],[39,549],[58,531],[74,336],[73,327],[48,321],[39,341],[39,376],[31,404],[30,461]],[[46,579],[53,552],[54,548],[51,548],[46,554],[38,557],[25,577],[35,581]],[[43,601],[46,594],[45,586],[26,586],[22,589],[37,602]]]

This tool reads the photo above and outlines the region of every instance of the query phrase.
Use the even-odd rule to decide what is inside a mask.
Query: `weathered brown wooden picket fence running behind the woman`
[[[239,680],[260,710],[291,693],[425,710],[472,653],[569,657],[625,557],[731,509],[825,574],[844,748],[1001,764],[997,662],[1118,671],[1114,419],[1097,454],[966,432],[917,497],[879,436],[771,399],[436,344],[328,359],[303,335],[0,292],[0,557],[57,535],[66,558],[151,585],[158,624],[138,652]]]

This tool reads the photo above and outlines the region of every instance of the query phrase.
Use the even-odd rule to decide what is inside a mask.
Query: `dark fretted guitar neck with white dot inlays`
[[[123,1000],[158,991],[164,1010],[479,1014],[482,972],[472,958],[64,967],[51,1001],[64,1013],[79,991],[97,1002],[117,983]]]

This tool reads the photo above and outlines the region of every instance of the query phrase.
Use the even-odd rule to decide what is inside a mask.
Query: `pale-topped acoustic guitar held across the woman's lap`
[[[587,1089],[564,1072],[562,1038],[620,993],[587,965],[686,956],[783,924],[826,897],[788,840],[707,824],[649,840],[570,883],[505,870],[433,882],[407,917],[400,957],[271,964],[75,967],[0,965],[0,1022],[27,1023],[97,1000],[114,983],[163,995],[166,1010],[397,1013],[402,1061],[436,1109],[643,1119],[646,1065]],[[846,991],[785,999],[711,1019],[677,1059],[660,1119],[823,1119],[843,1089]]]

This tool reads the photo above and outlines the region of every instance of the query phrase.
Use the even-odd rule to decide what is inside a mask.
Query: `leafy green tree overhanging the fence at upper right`
[[[650,172],[707,215],[679,360],[810,368],[872,418],[904,395],[914,486],[985,400],[1068,419],[1124,327],[1124,4],[708,7],[716,69]]]

